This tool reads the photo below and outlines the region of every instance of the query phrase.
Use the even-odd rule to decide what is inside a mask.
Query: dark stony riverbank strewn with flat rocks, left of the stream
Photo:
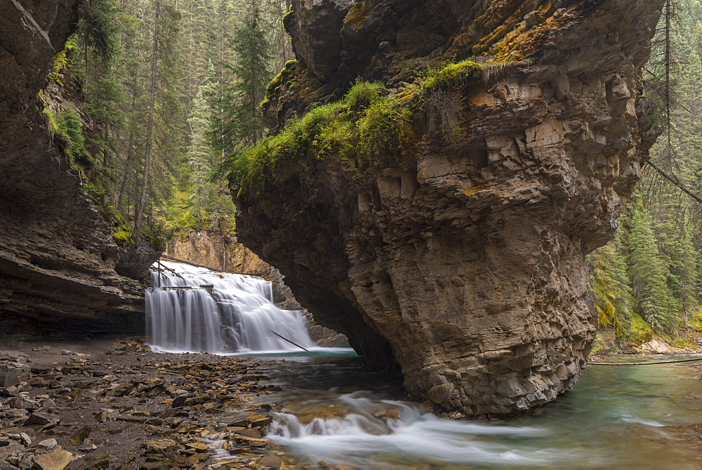
[[[0,343],[0,469],[284,468],[265,362],[137,339]],[[222,439],[232,457],[215,461]]]

